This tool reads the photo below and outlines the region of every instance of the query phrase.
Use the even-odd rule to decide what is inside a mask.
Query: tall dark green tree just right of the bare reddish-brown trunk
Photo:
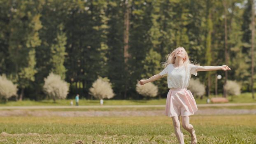
[[[130,18],[130,39],[129,39],[129,54],[128,59],[128,86],[127,89],[133,98],[137,97],[135,86],[137,80],[141,79],[141,74],[144,71],[142,61],[145,59],[146,54],[149,52],[151,42],[149,33],[151,23],[151,12],[153,5],[150,0],[137,0],[132,1],[131,4],[131,18]]]

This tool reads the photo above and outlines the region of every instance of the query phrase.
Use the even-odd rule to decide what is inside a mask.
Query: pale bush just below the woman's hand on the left
[[[158,87],[151,82],[144,85],[140,85],[139,83],[137,83],[136,91],[144,97],[156,97],[158,93]]]

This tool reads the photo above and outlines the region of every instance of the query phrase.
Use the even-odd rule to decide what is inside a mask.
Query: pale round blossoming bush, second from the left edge
[[[47,78],[44,78],[43,89],[44,93],[55,101],[56,99],[65,99],[67,97],[69,85],[61,79],[61,76],[50,73]]]

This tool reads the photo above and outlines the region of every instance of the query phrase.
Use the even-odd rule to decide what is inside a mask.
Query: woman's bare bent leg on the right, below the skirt
[[[191,135],[191,143],[196,144],[196,135],[193,128],[193,125],[189,123],[189,116],[182,116],[182,127],[187,130]],[[193,142],[192,142],[193,140]]]

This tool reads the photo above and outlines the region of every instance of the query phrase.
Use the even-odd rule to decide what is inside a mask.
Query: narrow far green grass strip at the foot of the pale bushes
[[[214,97],[211,96],[211,97]],[[238,96],[228,97],[230,100],[229,103],[251,103],[256,102],[256,99],[251,98],[251,93],[242,93]],[[201,99],[195,99],[197,104],[206,104],[207,98],[204,97]],[[42,100],[42,101],[9,101],[9,102],[0,102],[0,106],[65,106],[70,105],[71,100]],[[74,100],[73,100],[74,101]],[[79,105],[100,105],[100,100],[79,100]],[[153,99],[153,100],[104,100],[104,105],[165,105],[165,99]]]

